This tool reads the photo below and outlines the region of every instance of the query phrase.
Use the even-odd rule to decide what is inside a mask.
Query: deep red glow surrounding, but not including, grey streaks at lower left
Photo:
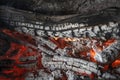
[[[17,54],[13,55],[13,56],[10,56],[12,51],[14,51],[16,49],[19,49]],[[41,63],[41,57],[42,56],[39,55],[39,54],[40,53],[38,53],[35,50],[29,52],[28,47],[26,47],[26,46],[12,43],[11,48],[8,50],[6,55],[3,56],[3,58],[2,58],[3,60],[7,58],[7,59],[15,61],[13,63],[13,65],[11,66],[12,68],[2,71],[2,73],[6,74],[6,75],[10,75],[10,74],[12,74],[12,75],[11,75],[10,79],[8,79],[8,78],[4,79],[4,77],[0,76],[0,80],[13,80],[14,77],[17,77],[14,80],[24,80],[24,77],[25,77],[24,74],[26,74],[27,72],[33,72],[37,68],[41,69],[42,68],[42,63]],[[30,57],[30,56],[38,56],[38,58],[36,60],[29,60],[29,61],[25,61],[25,62],[20,61],[20,58]],[[29,64],[29,63],[33,63],[33,62],[37,62],[37,64],[36,64],[37,68],[35,68],[35,67],[34,68],[25,68],[25,67],[19,67],[18,66],[18,65],[21,65],[21,64]]]

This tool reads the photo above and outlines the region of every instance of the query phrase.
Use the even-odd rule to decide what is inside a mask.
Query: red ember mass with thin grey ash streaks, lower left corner
[[[4,31],[6,32],[6,30]],[[8,33],[8,34],[11,35],[15,33]],[[13,38],[15,36],[16,34],[12,35]],[[21,35],[18,34],[17,36],[22,37]],[[33,47],[22,43],[16,43],[16,42],[10,43],[10,48],[8,49],[8,51],[4,53],[3,56],[0,56],[0,61],[6,61],[6,60],[7,62],[4,62],[3,64],[0,65],[1,68],[4,68],[0,72],[0,74],[2,73],[8,77],[1,75],[0,80],[13,80],[13,79],[25,80],[26,73],[34,72],[42,68],[40,52],[38,52]],[[9,66],[7,65],[7,63],[9,64]]]

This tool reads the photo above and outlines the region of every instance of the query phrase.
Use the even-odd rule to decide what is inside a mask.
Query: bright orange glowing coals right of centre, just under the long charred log
[[[59,38],[59,37],[54,37],[54,38],[50,38],[51,41],[53,41],[59,48],[65,48],[66,46],[69,46],[69,42],[75,42],[75,41],[85,41],[85,40],[91,40],[88,38]],[[96,41],[96,43],[94,43],[93,41]],[[107,48],[108,46],[110,46],[112,43],[114,43],[116,40],[115,39],[109,39],[106,40],[104,42],[100,42],[100,40],[91,40],[91,47],[85,47],[85,45],[83,45],[83,47],[85,49],[83,49],[82,51],[79,52],[79,56],[87,56],[87,54],[89,53],[89,57],[90,60],[93,62],[96,62],[95,60],[95,55],[98,53],[101,53],[103,51],[103,49]],[[78,49],[79,50],[79,49]]]

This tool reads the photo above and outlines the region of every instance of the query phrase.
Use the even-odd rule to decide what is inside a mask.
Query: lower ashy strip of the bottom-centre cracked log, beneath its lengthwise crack
[[[91,74],[91,71],[84,69],[82,67],[79,67],[79,68],[73,67],[73,65],[69,65],[66,62],[63,62],[63,61],[61,62],[59,60],[54,62],[48,57],[42,58],[42,64],[45,68],[49,70],[63,69],[63,70],[72,70],[74,72]]]

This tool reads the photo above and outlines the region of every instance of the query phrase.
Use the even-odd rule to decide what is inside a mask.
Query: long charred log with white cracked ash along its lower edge
[[[8,24],[9,28],[32,36],[95,37],[102,40],[114,37],[118,39],[120,37],[117,18],[120,16],[119,9],[112,8],[112,11],[107,9],[103,12],[92,16],[67,16],[59,20],[60,16],[56,18],[42,14],[36,15],[33,12],[2,6],[0,19]]]

